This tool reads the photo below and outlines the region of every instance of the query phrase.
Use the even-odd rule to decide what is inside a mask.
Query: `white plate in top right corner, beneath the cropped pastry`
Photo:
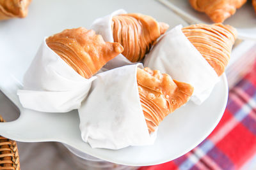
[[[190,24],[206,23],[213,24],[211,19],[205,13],[194,10],[189,4],[189,0],[158,0],[168,6]],[[252,6],[252,1],[248,1],[230,18],[227,18],[223,24],[229,24],[236,27],[238,37],[241,39],[256,39],[256,14]]]

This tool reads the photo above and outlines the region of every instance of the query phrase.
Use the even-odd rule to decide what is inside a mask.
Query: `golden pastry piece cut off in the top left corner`
[[[0,0],[0,20],[24,18],[31,0]]]

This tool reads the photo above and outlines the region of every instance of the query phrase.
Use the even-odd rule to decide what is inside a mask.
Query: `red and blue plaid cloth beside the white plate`
[[[220,123],[200,145],[178,159],[139,170],[239,169],[256,154],[256,63],[230,90]]]

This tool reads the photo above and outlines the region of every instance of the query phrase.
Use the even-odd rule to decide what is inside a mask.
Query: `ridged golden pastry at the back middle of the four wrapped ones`
[[[124,46],[122,53],[131,62],[143,59],[150,47],[169,25],[140,13],[116,15],[112,18],[114,41]]]

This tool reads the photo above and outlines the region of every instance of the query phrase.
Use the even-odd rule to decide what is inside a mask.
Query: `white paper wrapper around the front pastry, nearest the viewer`
[[[136,81],[138,64],[97,74],[79,111],[81,135],[92,148],[151,145]]]

